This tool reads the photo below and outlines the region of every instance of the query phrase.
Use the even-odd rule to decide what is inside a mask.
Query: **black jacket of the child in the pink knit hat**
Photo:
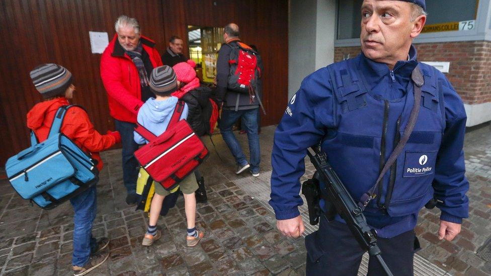
[[[194,88],[181,97],[188,104],[187,121],[198,136],[210,134],[211,97],[212,91],[206,86]]]

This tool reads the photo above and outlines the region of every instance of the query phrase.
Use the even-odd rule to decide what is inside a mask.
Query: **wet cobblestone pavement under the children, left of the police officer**
[[[263,135],[263,139],[272,139],[273,130],[267,128],[270,135]],[[237,136],[246,139],[246,135]],[[91,274],[305,274],[303,239],[287,239],[276,231],[274,214],[234,183],[252,177],[251,173],[235,175],[223,140],[219,135],[213,140],[223,162],[207,139],[211,154],[200,171],[208,187],[208,204],[197,206],[197,224],[205,230],[205,238],[194,248],[185,245],[182,197],[178,208],[158,221],[162,237],[150,247],[141,245],[148,220],[124,203],[120,150],[102,154],[105,167],[97,185],[98,215],[93,234],[111,239],[111,255]],[[270,146],[263,146],[263,171],[271,170],[270,152]],[[73,211],[68,203],[50,211],[29,207],[4,179],[0,180],[0,208],[0,274],[70,274]]]

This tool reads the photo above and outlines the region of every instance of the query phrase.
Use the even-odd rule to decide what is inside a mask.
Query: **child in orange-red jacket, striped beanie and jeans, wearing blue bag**
[[[39,142],[48,138],[54,116],[62,106],[70,105],[75,86],[70,71],[63,66],[41,64],[30,73],[34,86],[44,101],[36,104],[27,114],[29,127]],[[70,138],[82,150],[98,161],[102,169],[99,151],[110,148],[121,141],[117,131],[101,135],[94,129],[87,112],[80,107],[67,110],[60,132]],[[92,226],[97,213],[96,185],[70,199],[73,207],[73,275],[85,275],[101,265],[109,256],[107,237],[97,241],[92,237]]]

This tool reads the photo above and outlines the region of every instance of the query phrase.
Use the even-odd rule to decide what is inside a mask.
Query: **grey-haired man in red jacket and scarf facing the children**
[[[162,65],[155,42],[140,35],[140,25],[134,18],[122,15],[114,25],[116,34],[102,54],[101,78],[108,94],[109,110],[123,144],[123,182],[126,203],[135,204],[138,162],[133,153],[138,144],[133,141],[136,115],[143,103],[152,97],[148,77],[152,69]]]

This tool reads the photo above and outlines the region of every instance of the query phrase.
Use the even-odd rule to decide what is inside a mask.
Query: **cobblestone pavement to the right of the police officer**
[[[469,218],[452,242],[437,237],[440,211],[423,209],[415,231],[423,250],[419,254],[456,275],[491,275],[491,259],[477,256],[491,240],[491,127],[468,132],[464,144],[469,180]],[[489,246],[489,245],[488,245]]]

